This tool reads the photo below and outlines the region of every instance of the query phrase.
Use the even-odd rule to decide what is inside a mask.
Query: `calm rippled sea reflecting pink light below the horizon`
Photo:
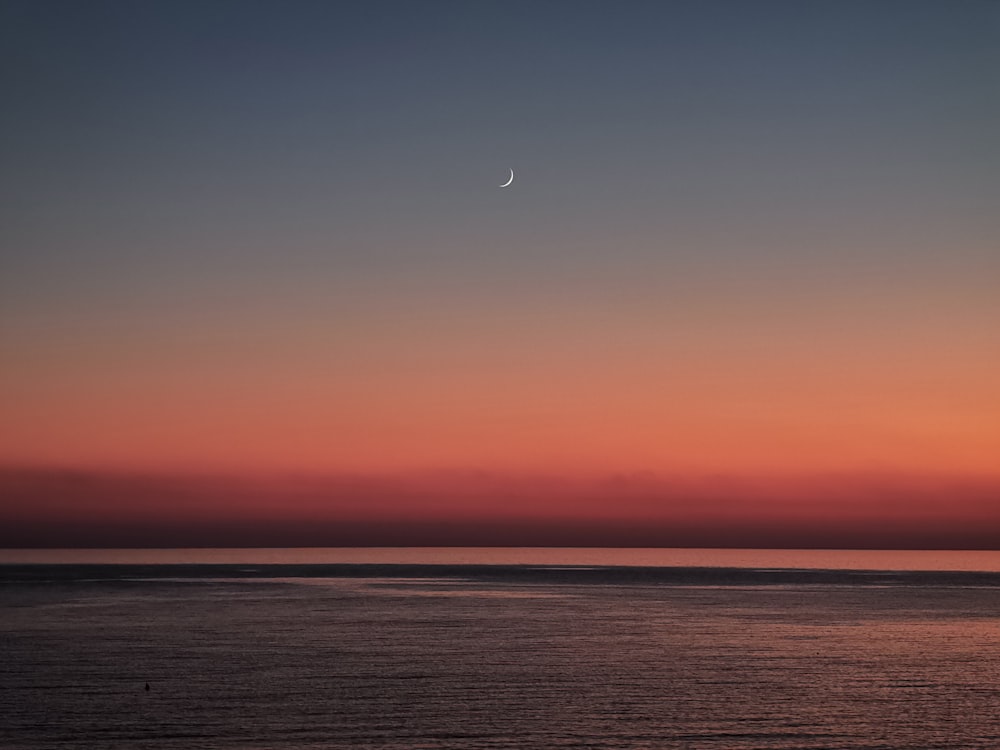
[[[1000,748],[1000,553],[0,550],[4,750]]]

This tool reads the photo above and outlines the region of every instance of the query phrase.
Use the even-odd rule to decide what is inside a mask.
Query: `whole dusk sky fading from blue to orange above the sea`
[[[1000,544],[996,2],[3,0],[0,103],[0,543]]]

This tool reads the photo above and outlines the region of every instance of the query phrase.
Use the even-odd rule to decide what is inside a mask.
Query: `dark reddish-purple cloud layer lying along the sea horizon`
[[[0,546],[1000,548],[1000,479],[7,469]]]

